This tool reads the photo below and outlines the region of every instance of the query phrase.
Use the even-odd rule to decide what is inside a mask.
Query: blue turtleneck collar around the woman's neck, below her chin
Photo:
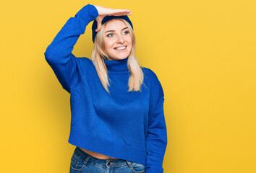
[[[127,67],[127,61],[128,57],[122,60],[106,60],[103,59],[104,63],[106,64],[106,68],[108,71],[115,71],[115,72],[120,72],[120,71],[128,71]]]

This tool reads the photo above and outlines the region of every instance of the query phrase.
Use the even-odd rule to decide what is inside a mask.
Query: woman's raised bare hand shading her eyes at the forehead
[[[132,12],[128,9],[111,9],[104,6],[94,5],[95,8],[98,10],[98,17],[95,19],[97,21],[97,29],[95,30],[98,32],[101,30],[101,21],[106,16],[126,16],[131,15]]]

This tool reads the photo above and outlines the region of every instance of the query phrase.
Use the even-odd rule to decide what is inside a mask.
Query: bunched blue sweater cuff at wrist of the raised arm
[[[94,5],[87,4],[86,6],[82,7],[79,12],[75,16],[81,15],[84,19],[90,19],[93,21],[98,17],[98,10]]]

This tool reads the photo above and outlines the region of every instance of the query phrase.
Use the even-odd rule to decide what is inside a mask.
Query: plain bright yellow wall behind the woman
[[[43,53],[82,6],[131,9],[165,93],[166,173],[256,172],[256,2],[1,2],[0,172],[69,172],[69,93]],[[90,58],[91,24],[74,47]]]

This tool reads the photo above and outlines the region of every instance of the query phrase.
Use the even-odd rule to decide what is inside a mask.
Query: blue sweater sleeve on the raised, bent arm
[[[68,19],[44,53],[61,86],[70,92],[70,88],[79,84],[83,72],[80,58],[72,54],[74,44],[85,33],[86,26],[98,17],[98,10],[93,5],[86,5],[74,17]]]

